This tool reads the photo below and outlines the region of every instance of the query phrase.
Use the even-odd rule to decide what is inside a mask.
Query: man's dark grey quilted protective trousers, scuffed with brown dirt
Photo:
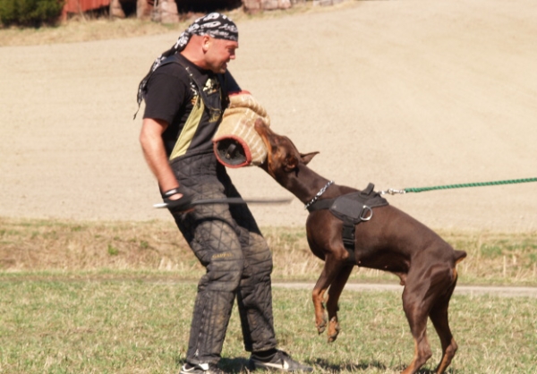
[[[240,196],[212,153],[176,159],[172,168],[196,200]],[[186,360],[192,364],[219,361],[235,296],[246,351],[275,348],[272,255],[250,209],[246,205],[199,205],[174,218],[207,269],[198,285]]]

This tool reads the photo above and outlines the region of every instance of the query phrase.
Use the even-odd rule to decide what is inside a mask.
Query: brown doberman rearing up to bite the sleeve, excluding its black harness
[[[300,153],[291,140],[272,132],[261,121],[255,123],[255,129],[268,149],[267,160],[260,167],[304,204],[359,192],[313,172],[307,164],[319,152]],[[324,332],[328,321],[328,342],[336,340],[337,301],[354,266],[392,272],[405,286],[403,309],[414,339],[413,361],[403,373],[417,372],[430,359],[427,317],[440,338],[442,358],[436,372],[443,373],[457,349],[447,308],[456,286],[456,263],[465,258],[466,252],[455,251],[430,228],[391,205],[371,209],[364,217],[354,226],[354,259],[353,252],[345,249],[341,219],[329,209],[313,210],[307,218],[310,249],[325,261],[312,293],[317,330]],[[323,306],[327,290],[328,319]]]

